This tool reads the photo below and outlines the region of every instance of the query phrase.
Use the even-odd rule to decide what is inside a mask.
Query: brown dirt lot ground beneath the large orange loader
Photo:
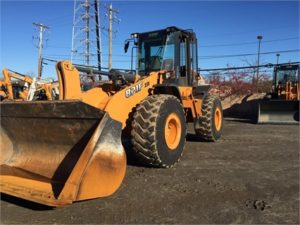
[[[217,143],[190,129],[175,168],[129,165],[113,196],[65,208],[2,195],[1,222],[299,224],[299,127],[227,119]]]

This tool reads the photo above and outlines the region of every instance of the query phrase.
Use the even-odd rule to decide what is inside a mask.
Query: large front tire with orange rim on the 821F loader
[[[146,166],[172,167],[182,155],[186,122],[183,106],[172,95],[152,95],[144,99],[133,116],[133,151]]]

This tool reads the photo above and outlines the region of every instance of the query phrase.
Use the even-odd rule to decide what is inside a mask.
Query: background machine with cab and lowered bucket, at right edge
[[[258,123],[299,123],[299,64],[274,67],[273,85],[258,107]]]

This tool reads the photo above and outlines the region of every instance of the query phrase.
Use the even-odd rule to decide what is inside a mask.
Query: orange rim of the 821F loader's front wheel
[[[169,149],[174,150],[178,146],[181,137],[181,123],[177,114],[171,113],[165,125],[165,140]]]

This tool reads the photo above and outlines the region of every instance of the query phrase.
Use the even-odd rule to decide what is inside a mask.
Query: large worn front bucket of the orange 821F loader
[[[121,123],[81,101],[1,103],[0,190],[62,206],[108,196],[126,170]]]

